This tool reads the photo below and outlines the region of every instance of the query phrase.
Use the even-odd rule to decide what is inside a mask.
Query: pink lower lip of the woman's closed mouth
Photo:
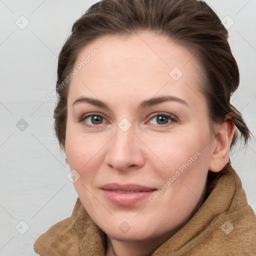
[[[139,202],[146,197],[149,197],[155,190],[140,191],[132,193],[118,193],[112,190],[101,189],[106,199],[114,204],[119,205],[132,205]]]

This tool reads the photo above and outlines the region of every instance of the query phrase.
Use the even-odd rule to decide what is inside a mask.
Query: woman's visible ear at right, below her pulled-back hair
[[[226,118],[231,119],[233,114],[230,112]],[[218,172],[228,162],[230,144],[234,135],[234,123],[231,120],[225,120],[217,126],[216,135],[212,143],[212,153],[208,169]]]

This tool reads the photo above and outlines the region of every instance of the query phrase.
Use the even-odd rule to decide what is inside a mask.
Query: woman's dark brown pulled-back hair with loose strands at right
[[[222,123],[231,112],[235,134],[230,148],[250,131],[241,113],[230,103],[239,84],[239,71],[227,41],[228,32],[219,17],[203,1],[197,0],[101,0],[93,4],[71,30],[59,56],[54,109],[54,128],[60,147],[64,149],[67,116],[67,83],[59,84],[71,73],[77,54],[88,43],[102,35],[128,36],[141,30],[167,36],[189,49],[199,60],[204,80],[200,89],[208,105],[210,126]],[[225,167],[230,167],[230,159]],[[211,176],[209,178],[209,176]],[[208,184],[219,176],[212,173]],[[209,181],[210,179],[210,181]],[[207,195],[207,191],[204,191]]]

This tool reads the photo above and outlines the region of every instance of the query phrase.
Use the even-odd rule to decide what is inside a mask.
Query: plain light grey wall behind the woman
[[[0,0],[0,255],[37,255],[35,239],[72,213],[77,194],[54,137],[56,98],[46,94],[54,90],[57,55],[71,25],[95,2]],[[232,103],[256,138],[256,1],[207,2],[227,26],[234,22],[229,42],[240,86]],[[22,118],[28,127],[19,126]],[[255,140],[230,158],[256,212]]]

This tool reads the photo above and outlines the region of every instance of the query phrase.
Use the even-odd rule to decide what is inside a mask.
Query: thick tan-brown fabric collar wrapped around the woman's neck
[[[201,207],[152,256],[256,255],[256,216],[240,178],[224,168]],[[72,215],[51,226],[34,243],[41,256],[104,256],[106,235],[90,218],[79,197]]]

